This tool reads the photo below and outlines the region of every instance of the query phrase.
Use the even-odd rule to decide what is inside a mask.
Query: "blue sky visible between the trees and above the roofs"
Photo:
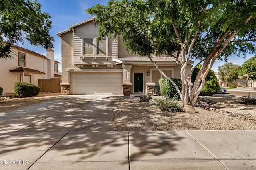
[[[50,31],[50,35],[55,39],[53,42],[53,49],[55,51],[54,59],[61,62],[61,39],[56,35],[56,33],[67,29],[74,23],[78,23],[82,20],[90,18],[91,16],[87,14],[84,9],[90,8],[98,3],[106,5],[108,0],[38,0],[38,2],[42,5],[42,11],[48,12],[50,16],[52,16],[52,29]],[[29,41],[25,41],[24,46],[21,43],[18,45],[46,56],[46,49],[40,46],[30,45]],[[230,56],[228,57],[228,62],[241,65],[244,63],[244,61],[253,56],[254,55],[248,54],[246,59],[243,59],[242,55],[240,57]],[[223,64],[223,61],[216,61],[212,67],[212,70],[217,72],[217,67]]]

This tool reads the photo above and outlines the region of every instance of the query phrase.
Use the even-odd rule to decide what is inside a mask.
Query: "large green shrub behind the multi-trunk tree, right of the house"
[[[194,83],[196,76],[201,68],[201,65],[198,65],[191,74],[191,82]],[[220,91],[220,85],[218,84],[217,77],[214,74],[213,70],[210,70],[205,78],[204,86],[200,92],[202,96],[212,96],[215,93]]]

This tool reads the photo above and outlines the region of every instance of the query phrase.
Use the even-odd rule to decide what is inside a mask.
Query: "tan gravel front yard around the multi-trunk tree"
[[[240,104],[239,97],[206,97],[215,104],[211,107],[226,112],[256,116],[256,106]],[[255,130],[255,123],[196,107],[198,113],[162,112],[156,105],[140,102],[139,98],[120,98],[110,131],[144,130]]]

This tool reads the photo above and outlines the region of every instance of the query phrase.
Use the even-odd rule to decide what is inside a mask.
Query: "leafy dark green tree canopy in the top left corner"
[[[0,0],[0,59],[11,58],[12,45],[19,41],[24,45],[24,38],[31,45],[52,48],[50,18],[36,0]]]

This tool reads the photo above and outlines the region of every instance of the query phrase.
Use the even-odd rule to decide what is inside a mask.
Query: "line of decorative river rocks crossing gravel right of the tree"
[[[228,111],[213,108],[213,107],[210,106],[212,104],[215,104],[215,103],[211,99],[208,99],[208,98],[205,98],[205,97],[199,97],[197,99],[197,102],[196,102],[195,106],[199,107],[200,109],[214,111],[214,112],[220,113],[222,115],[235,117],[237,119],[241,119],[243,121],[246,121],[247,123],[256,124],[256,116],[252,116],[250,113],[248,113],[248,114],[232,113],[232,112],[228,112]]]

